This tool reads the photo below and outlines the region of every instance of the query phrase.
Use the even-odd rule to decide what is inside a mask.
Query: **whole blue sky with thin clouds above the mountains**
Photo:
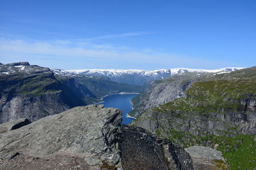
[[[0,1],[0,62],[61,69],[256,66],[256,1]]]

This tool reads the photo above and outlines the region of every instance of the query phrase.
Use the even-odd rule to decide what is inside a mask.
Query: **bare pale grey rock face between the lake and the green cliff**
[[[149,108],[154,108],[184,96],[184,92],[191,83],[199,81],[201,76],[207,74],[211,75],[210,73],[186,72],[152,82],[144,92],[132,99],[133,110],[129,115],[140,117]]]

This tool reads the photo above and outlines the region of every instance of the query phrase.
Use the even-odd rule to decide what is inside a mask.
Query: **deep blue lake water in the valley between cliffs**
[[[131,99],[138,94],[112,94],[110,96],[103,97],[104,108],[118,108],[123,111],[122,124],[130,124],[134,118],[126,117],[127,113],[132,110]]]

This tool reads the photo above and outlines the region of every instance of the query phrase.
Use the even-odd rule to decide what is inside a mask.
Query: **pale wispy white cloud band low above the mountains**
[[[118,34],[110,37],[132,36]],[[90,41],[28,41],[0,39],[0,62],[33,61],[35,64],[62,69],[113,68],[160,69],[171,67],[223,67],[225,63],[196,59],[172,53],[159,53],[151,48],[136,49]],[[222,66],[220,65],[222,64]]]

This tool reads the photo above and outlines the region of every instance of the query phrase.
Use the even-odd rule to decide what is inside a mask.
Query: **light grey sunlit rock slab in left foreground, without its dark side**
[[[120,129],[122,117],[120,110],[102,107],[73,108],[0,134],[1,159],[9,160],[15,153],[34,157],[61,153],[80,155],[90,166],[102,161],[118,164],[113,135]]]

